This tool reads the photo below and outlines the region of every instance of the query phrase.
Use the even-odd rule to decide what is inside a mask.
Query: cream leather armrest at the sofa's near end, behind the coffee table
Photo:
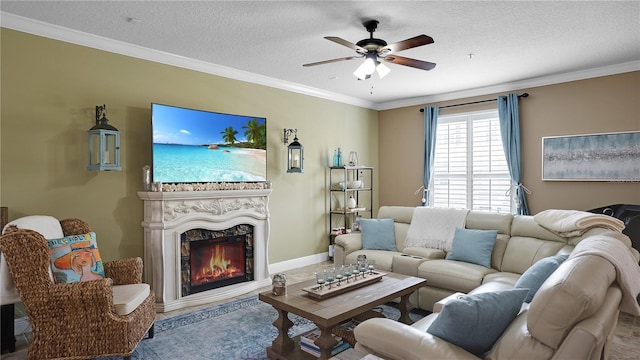
[[[478,359],[450,342],[391,319],[363,321],[354,334],[356,349],[387,360]]]

